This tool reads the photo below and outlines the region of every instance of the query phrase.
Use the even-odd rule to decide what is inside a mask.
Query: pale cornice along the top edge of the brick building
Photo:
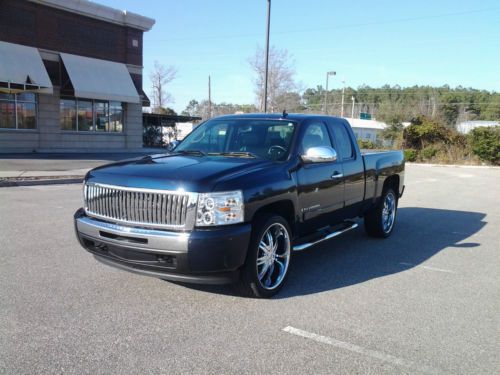
[[[155,24],[152,18],[144,17],[136,13],[118,10],[105,5],[97,4],[89,0],[29,0],[33,3],[45,5],[52,8],[65,10],[101,21],[129,26],[142,31],[151,30]]]

